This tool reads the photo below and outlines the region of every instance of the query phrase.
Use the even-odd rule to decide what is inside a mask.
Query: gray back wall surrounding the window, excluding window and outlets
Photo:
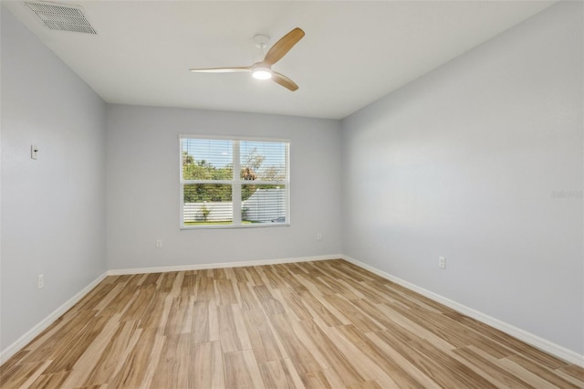
[[[339,121],[110,105],[107,132],[110,269],[340,253]],[[291,226],[180,230],[181,133],[290,139]]]

